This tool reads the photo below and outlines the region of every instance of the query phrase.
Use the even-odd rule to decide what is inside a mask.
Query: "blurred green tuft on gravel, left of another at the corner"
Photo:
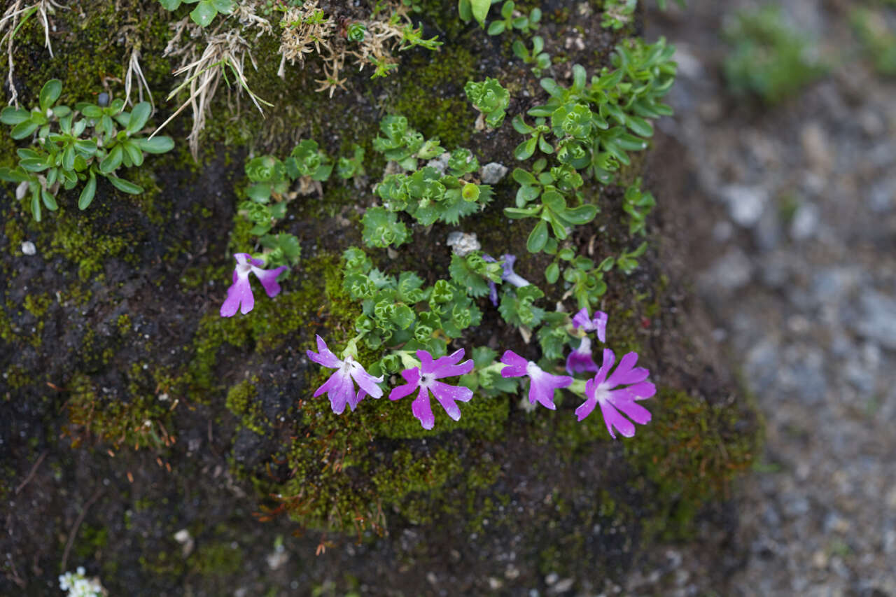
[[[776,104],[828,70],[815,56],[814,42],[788,24],[780,6],[741,11],[722,33],[732,48],[725,58],[725,78],[736,95]]]

